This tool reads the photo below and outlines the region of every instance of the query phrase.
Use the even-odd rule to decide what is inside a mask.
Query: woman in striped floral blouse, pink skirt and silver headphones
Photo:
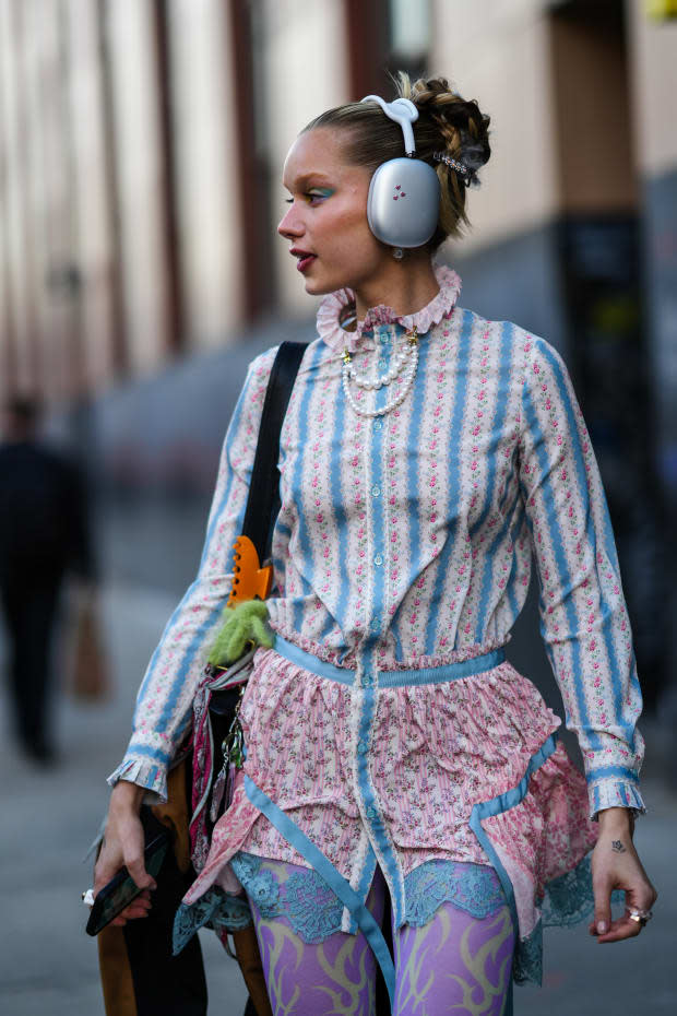
[[[401,75],[401,95],[440,184],[429,241],[403,250],[370,229],[371,177],[404,154],[382,104],[323,114],[285,163],[278,231],[324,299],[281,440],[275,645],[256,655],[244,771],[177,919],[180,946],[206,920],[223,932],[251,912],[276,1013],[372,1012],[377,959],[399,1016],[510,1012],[511,969],[539,978],[543,924],[586,912],[593,847],[598,942],[639,934],[655,899],[632,846],[630,629],[567,370],[543,340],[461,309],[460,280],[432,261],[467,221],[489,120],[443,79]],[[407,200],[401,185],[392,198]],[[139,803],[165,793],[229,590],[272,358],[250,367],[198,579],[110,778],[97,888],[122,862],[152,884]],[[560,721],[503,657],[532,554],[587,788]],[[615,888],[626,911],[611,920]],[[387,891],[394,971],[376,926]],[[121,920],[149,906],[146,893]]]

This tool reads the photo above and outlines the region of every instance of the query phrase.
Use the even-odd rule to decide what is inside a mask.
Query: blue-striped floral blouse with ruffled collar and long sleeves
[[[281,437],[271,625],[358,673],[439,665],[508,640],[534,559],[542,634],[583,753],[591,814],[643,810],[630,625],[567,368],[543,339],[456,306],[460,280],[442,267],[436,273],[440,293],[416,315],[379,307],[351,333],[340,323],[349,294],[320,307],[319,338],[305,353]],[[412,390],[384,415],[358,415],[342,386],[344,347],[360,373],[383,374],[413,326]],[[151,659],[111,783],[123,778],[166,794],[230,588],[274,354],[249,367],[198,576]],[[375,410],[392,389],[352,391]]]

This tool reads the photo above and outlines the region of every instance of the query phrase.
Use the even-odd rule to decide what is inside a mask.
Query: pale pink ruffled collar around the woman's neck
[[[446,264],[433,264],[432,268],[440,292],[421,310],[417,310],[416,314],[399,315],[392,307],[379,304],[378,307],[371,307],[367,311],[364,320],[357,321],[355,331],[348,331],[341,323],[346,311],[355,307],[355,294],[347,288],[330,293],[322,299],[318,309],[320,339],[323,339],[332,350],[347,348],[352,353],[363,332],[371,331],[377,324],[401,324],[407,331],[417,328],[421,335],[425,334],[433,324],[439,324],[442,318],[451,316],[461,292],[461,280],[452,269]]]

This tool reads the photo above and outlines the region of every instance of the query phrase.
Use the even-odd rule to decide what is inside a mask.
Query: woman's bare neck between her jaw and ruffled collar
[[[416,314],[433,299],[440,287],[427,251],[407,250],[402,261],[393,258],[379,277],[355,290],[357,317],[361,320],[370,307],[385,304],[395,314]]]

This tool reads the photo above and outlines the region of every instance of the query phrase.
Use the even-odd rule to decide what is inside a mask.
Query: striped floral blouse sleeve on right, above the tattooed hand
[[[561,357],[527,339],[520,484],[541,588],[541,631],[585,764],[591,816],[644,811],[642,698],[616,545],[585,422]]]

